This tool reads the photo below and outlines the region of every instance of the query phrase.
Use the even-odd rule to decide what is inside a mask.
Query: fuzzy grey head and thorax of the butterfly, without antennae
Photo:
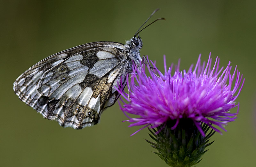
[[[129,72],[132,72],[132,65],[133,63],[140,67],[140,61],[142,58],[140,57],[140,49],[142,48],[142,40],[140,36],[132,37],[129,41],[126,41],[124,45],[128,49],[128,57],[127,57],[127,66]]]

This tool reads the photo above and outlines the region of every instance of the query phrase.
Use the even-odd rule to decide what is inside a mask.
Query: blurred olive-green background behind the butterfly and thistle
[[[148,130],[127,127],[116,103],[104,111],[99,125],[74,130],[44,119],[21,102],[13,82],[29,67],[59,51],[94,41],[125,43],[156,8],[140,33],[142,55],[163,70],[177,63],[188,70],[202,53],[206,61],[220,57],[238,65],[244,88],[240,111],[228,132],[215,142],[197,167],[254,166],[255,158],[255,1],[1,1],[0,166],[167,166],[144,140]],[[236,112],[233,109],[232,112]]]

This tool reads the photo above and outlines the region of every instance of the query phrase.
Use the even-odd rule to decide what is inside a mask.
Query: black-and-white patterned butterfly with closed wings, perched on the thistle
[[[115,87],[125,87],[132,65],[140,67],[143,29],[125,45],[91,42],[49,56],[21,74],[13,90],[21,101],[63,127],[93,126],[120,96]]]

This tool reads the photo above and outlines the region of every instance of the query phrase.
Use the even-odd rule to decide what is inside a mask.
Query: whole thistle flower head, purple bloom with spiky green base
[[[207,151],[205,148],[213,143],[208,143],[209,138],[215,132],[221,133],[220,129],[226,131],[224,126],[238,114],[239,103],[235,104],[235,100],[244,84],[243,80],[240,86],[243,75],[240,77],[236,67],[231,74],[230,62],[225,69],[219,69],[218,57],[211,69],[211,53],[207,64],[201,65],[200,57],[193,71],[191,65],[188,72],[180,72],[179,62],[174,75],[173,65],[167,71],[165,57],[164,74],[152,62],[154,70],[147,65],[150,76],[146,75],[145,66],[140,65],[141,70],[134,66],[130,82],[127,76],[129,93],[119,86],[121,97],[127,100],[126,103],[120,98],[124,103],[119,102],[120,109],[129,118],[130,126],[148,127],[156,143],[146,141],[169,166],[189,167],[199,163]],[[237,112],[230,113],[234,107]]]

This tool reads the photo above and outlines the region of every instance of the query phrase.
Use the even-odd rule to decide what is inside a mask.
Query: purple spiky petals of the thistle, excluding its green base
[[[130,82],[127,76],[129,94],[124,92],[122,86],[119,86],[119,93],[128,101],[125,103],[120,98],[124,105],[122,107],[120,102],[119,105],[129,118],[127,121],[132,122],[129,126],[144,125],[143,128],[145,128],[150,125],[151,128],[156,128],[166,124],[169,120],[174,120],[176,123],[171,128],[173,130],[179,124],[180,119],[186,118],[194,122],[203,136],[205,133],[201,123],[207,124],[219,133],[221,133],[220,128],[226,131],[224,125],[234,121],[238,114],[239,103],[236,105],[235,100],[244,84],[243,80],[239,88],[243,75],[240,77],[240,72],[236,67],[234,73],[231,74],[230,62],[224,70],[223,67],[219,69],[220,59],[218,57],[211,68],[211,53],[206,67],[205,62],[201,65],[200,57],[201,55],[193,71],[193,65],[190,66],[188,72],[179,71],[178,65],[174,75],[171,75],[173,65],[168,71],[166,69],[165,56],[164,74],[151,62],[155,68],[154,72],[160,77],[156,76],[149,66],[150,76],[146,75],[145,66],[135,66]],[[234,79],[235,83],[232,88]],[[236,106],[237,112],[230,113],[229,110]],[[126,113],[138,115],[139,118],[130,118]]]

